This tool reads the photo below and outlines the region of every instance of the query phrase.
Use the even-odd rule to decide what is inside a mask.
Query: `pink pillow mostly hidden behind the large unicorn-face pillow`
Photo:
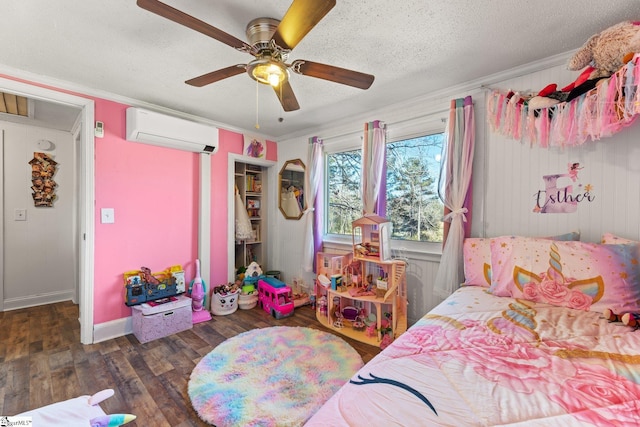
[[[580,240],[580,232],[543,237],[552,240]],[[462,252],[464,255],[464,284],[466,286],[491,285],[491,239],[470,237],[464,239]]]

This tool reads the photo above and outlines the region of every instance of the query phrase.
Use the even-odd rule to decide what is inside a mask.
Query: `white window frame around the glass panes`
[[[443,133],[445,131],[445,118],[441,114],[434,114],[429,116],[423,116],[402,122],[387,124],[387,144],[391,142],[398,142],[405,139],[418,138],[421,136],[433,135],[435,133]],[[361,131],[362,132],[362,131]],[[362,149],[362,133],[351,133],[340,137],[324,140],[324,155],[325,155],[325,182],[323,183],[324,191],[324,203],[325,212],[327,212],[327,204],[329,201],[329,188],[326,184],[328,170],[326,157],[330,154],[340,153],[344,151],[351,151]],[[438,171],[439,176],[439,171]],[[436,176],[436,179],[437,177]],[[444,212],[443,212],[444,215]],[[352,238],[350,235],[340,234],[327,234],[327,221],[328,215],[325,215],[323,224],[323,240],[325,246],[329,246],[336,249],[347,249],[352,244]],[[416,242],[411,240],[397,240],[391,239],[391,250],[394,256],[403,256],[405,253],[423,253],[423,254],[442,254],[441,242]]]

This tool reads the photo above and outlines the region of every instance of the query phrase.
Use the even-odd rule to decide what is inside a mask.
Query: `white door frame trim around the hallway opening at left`
[[[71,188],[77,189],[75,196],[75,230],[76,245],[73,255],[72,276],[77,281],[77,295],[80,321],[80,341],[82,344],[93,343],[93,276],[94,276],[94,101],[87,98],[69,95],[63,92],[0,78],[0,90],[29,99],[42,101],[54,108],[76,109],[77,120],[73,129],[69,130],[69,139],[75,147],[76,161],[71,162],[71,168],[76,172]],[[79,141],[75,144],[74,141]],[[3,159],[4,161],[4,159]],[[4,211],[4,208],[2,209]],[[18,215],[18,214],[16,214]],[[4,216],[4,215],[3,215]],[[6,222],[10,218],[2,218]],[[13,219],[13,218],[11,218]],[[5,247],[4,234],[0,234],[2,248]],[[4,264],[0,265],[2,283],[0,284],[0,311],[5,310]],[[74,298],[72,298],[74,299]]]

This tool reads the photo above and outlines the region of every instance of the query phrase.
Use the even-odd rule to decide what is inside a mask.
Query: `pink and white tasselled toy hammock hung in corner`
[[[575,82],[536,95],[493,90],[487,96],[492,131],[543,148],[578,146],[620,132],[640,114],[640,54],[608,78]],[[584,73],[583,73],[584,74]]]

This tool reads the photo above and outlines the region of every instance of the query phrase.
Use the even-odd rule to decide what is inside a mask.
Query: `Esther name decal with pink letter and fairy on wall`
[[[567,173],[544,175],[544,190],[538,190],[534,195],[536,213],[572,213],[578,210],[578,203],[593,202],[596,198],[592,194],[591,184],[582,185],[578,181],[578,172],[584,167],[580,163],[569,163]],[[567,180],[569,180],[567,182]],[[564,184],[567,185],[564,185]],[[574,183],[577,187],[574,191]],[[563,186],[564,185],[564,186]]]

